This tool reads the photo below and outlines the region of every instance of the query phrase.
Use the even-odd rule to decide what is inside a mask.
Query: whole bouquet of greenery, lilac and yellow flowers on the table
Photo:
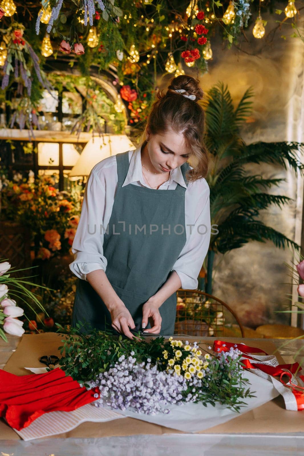
[[[240,410],[242,399],[251,397],[248,380],[235,347],[211,355],[197,342],[170,337],[136,337],[133,340],[71,328],[59,347],[59,361],[67,375],[88,389],[98,387],[95,405],[131,408],[138,413],[169,413],[170,404],[204,405],[216,402]],[[59,326],[58,331],[66,328]],[[209,347],[211,349],[211,347]]]

